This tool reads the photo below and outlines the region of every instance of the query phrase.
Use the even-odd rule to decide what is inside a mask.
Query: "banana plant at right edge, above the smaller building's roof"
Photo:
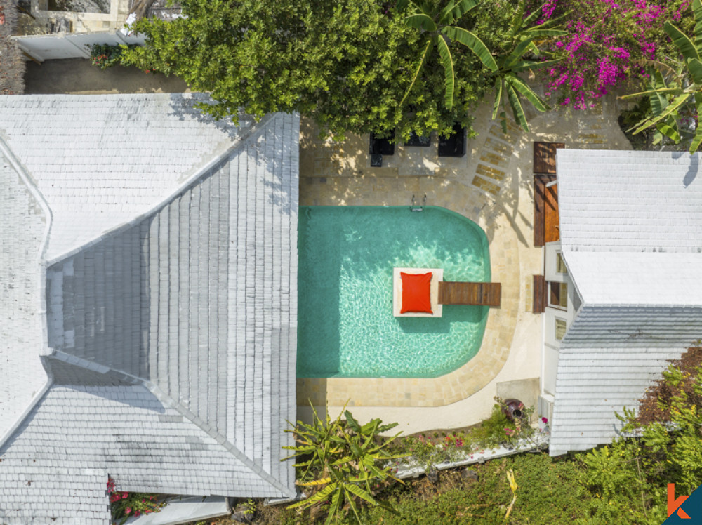
[[[665,31],[683,58],[682,71],[670,84],[666,83],[661,72],[651,78],[649,89],[640,93],[624,95],[623,99],[648,96],[651,100],[651,117],[643,119],[632,128],[633,134],[654,127],[662,135],[676,144],[682,140],[677,124],[684,113],[694,114],[696,129],[689,145],[689,152],[697,151],[702,143],[702,128],[699,115],[702,112],[702,0],[692,1],[695,17],[694,39],[684,34],[671,22],[665,22]]]

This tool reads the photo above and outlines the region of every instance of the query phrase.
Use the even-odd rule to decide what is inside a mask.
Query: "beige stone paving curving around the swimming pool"
[[[490,246],[492,281],[502,283],[502,305],[491,308],[482,347],[458,370],[439,378],[299,378],[298,418],[309,402],[331,415],[347,401],[355,416],[398,421],[418,432],[472,425],[489,416],[498,383],[541,377],[541,316],[531,308],[531,277],[542,273],[534,248],[532,142],[564,142],[574,149],[630,149],[617,124],[618,102],[595,109],[530,114],[531,133],[510,123],[503,134],[480,107],[460,159],[437,157],[430,147],[395,146],[382,168],[369,167],[369,139],[320,141],[309,121],[300,137],[300,205],[397,206],[418,202],[443,206],[476,222]],[[309,400],[309,401],[308,401]],[[535,401],[535,400],[534,400]],[[367,416],[366,416],[367,414]]]

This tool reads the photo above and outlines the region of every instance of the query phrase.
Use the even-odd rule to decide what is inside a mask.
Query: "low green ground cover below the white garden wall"
[[[442,471],[437,485],[426,478],[407,480],[382,495],[397,510],[367,507],[364,524],[392,525],[490,525],[504,524],[512,492],[506,473],[515,474],[517,500],[507,523],[601,525],[586,515],[592,498],[582,483],[583,466],[572,460],[554,460],[545,453],[511,456],[475,465],[478,481],[467,481],[461,473]],[[380,496],[379,496],[380,497]],[[265,523],[291,524],[286,512]],[[315,523],[310,521],[310,523]],[[349,519],[340,521],[352,524]]]

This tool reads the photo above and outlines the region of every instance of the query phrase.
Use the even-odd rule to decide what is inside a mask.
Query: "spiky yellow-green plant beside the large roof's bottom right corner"
[[[397,423],[383,425],[380,419],[373,419],[360,425],[349,411],[343,410],[345,419],[339,416],[332,420],[326,413],[319,418],[312,406],[312,424],[298,421],[293,425],[293,437],[296,446],[283,448],[295,451],[284,458],[298,458],[295,467],[300,469],[296,484],[312,491],[309,497],[288,508],[301,510],[329,503],[326,523],[338,521],[342,514],[352,512],[358,523],[359,504],[362,501],[371,505],[380,505],[392,510],[387,503],[381,503],[373,494],[380,484],[388,481],[400,481],[392,475],[388,460],[402,458],[402,455],[388,453],[386,448],[399,434],[390,438],[380,437],[397,426]],[[375,488],[374,488],[375,487]]]

